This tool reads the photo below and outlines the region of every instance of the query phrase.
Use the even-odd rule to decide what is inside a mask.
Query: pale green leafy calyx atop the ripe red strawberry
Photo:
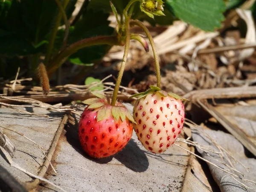
[[[133,116],[128,111],[128,109],[122,105],[120,102],[116,102],[116,106],[110,105],[107,97],[100,93],[93,93],[92,94],[98,98],[90,98],[82,101],[85,105],[88,105],[87,109],[96,109],[99,108],[98,115],[97,115],[97,122],[108,119],[110,115],[113,116],[114,119],[118,120],[119,118],[122,122],[127,118],[131,122],[135,123]]]

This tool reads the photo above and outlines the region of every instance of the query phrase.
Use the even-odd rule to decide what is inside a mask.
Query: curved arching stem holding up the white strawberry
[[[157,87],[161,88],[160,64],[159,64],[159,57],[157,55],[157,48],[156,48],[156,45],[154,43],[154,39],[153,39],[152,35],[150,34],[148,28],[141,21],[131,20],[130,24],[131,24],[131,26],[133,26],[133,25],[139,26],[141,29],[144,30],[144,32],[148,36],[148,40],[149,40],[149,42],[151,44],[151,47],[152,47],[152,51],[153,51],[153,54],[154,54],[155,65],[156,65]]]

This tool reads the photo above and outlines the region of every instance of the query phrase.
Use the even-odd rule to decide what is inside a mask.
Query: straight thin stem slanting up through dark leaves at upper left
[[[57,2],[59,0],[55,0],[55,1]],[[63,0],[62,8],[64,10],[65,10],[68,2],[69,2],[69,0]],[[45,64],[46,67],[49,65],[49,60],[51,58],[52,49],[53,49],[53,46],[54,46],[56,34],[58,32],[58,26],[61,23],[61,17],[62,17],[62,13],[61,13],[61,10],[59,10],[58,15],[55,18],[55,23],[54,23],[54,26],[53,26],[53,29],[52,29],[52,32],[51,32],[49,45],[47,47],[47,51],[46,51],[46,54],[45,54],[44,64]]]

